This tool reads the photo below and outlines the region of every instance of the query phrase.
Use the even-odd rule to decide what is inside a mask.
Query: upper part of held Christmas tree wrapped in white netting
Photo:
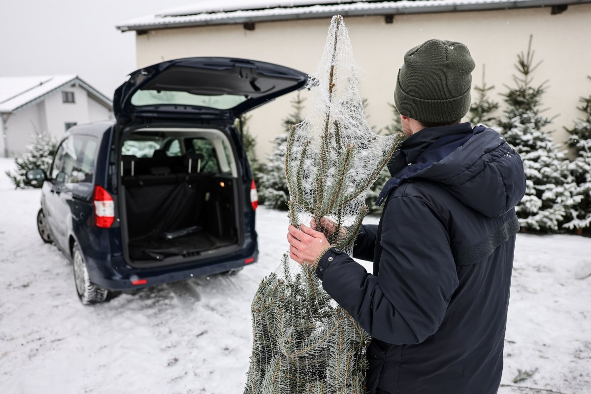
[[[324,231],[331,245],[349,253],[367,210],[365,193],[400,139],[376,135],[369,126],[358,74],[347,28],[342,17],[334,17],[322,60],[310,76],[310,115],[291,129],[285,157],[291,224],[329,217],[350,229],[346,236]]]

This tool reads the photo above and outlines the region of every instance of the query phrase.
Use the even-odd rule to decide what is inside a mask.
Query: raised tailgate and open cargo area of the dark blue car
[[[288,67],[221,57],[164,61],[130,74],[113,109],[122,236],[132,265],[242,248],[250,175],[231,125],[306,82],[306,74]]]

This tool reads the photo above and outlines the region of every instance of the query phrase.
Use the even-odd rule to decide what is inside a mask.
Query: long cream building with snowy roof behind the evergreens
[[[558,142],[567,138],[563,126],[571,127],[582,116],[579,97],[591,92],[591,0],[202,0],[138,14],[117,28],[135,34],[138,68],[181,57],[225,56],[313,73],[336,14],[345,17],[356,63],[364,71],[361,95],[376,129],[391,124],[388,103],[394,103],[405,52],[430,38],[467,45],[476,62],[473,86],[482,85],[486,66],[486,83],[495,86],[488,95],[501,103],[493,115],[501,116],[505,85],[514,86],[517,54],[527,52],[532,35],[534,61],[542,61],[532,83],[548,80],[542,104],[546,116],[557,116],[547,131]],[[259,158],[272,151],[270,141],[284,132],[281,121],[293,112],[295,95],[249,113]],[[311,103],[304,106],[308,110]]]

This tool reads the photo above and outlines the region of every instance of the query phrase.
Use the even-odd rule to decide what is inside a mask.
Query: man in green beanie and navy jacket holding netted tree
[[[381,220],[362,226],[353,249],[373,274],[326,250],[321,232],[289,228],[291,257],[314,262],[323,288],[374,338],[372,394],[492,394],[501,381],[525,177],[499,133],[460,123],[474,67],[453,41],[404,56],[394,99],[408,138],[388,165]],[[337,230],[327,218],[319,225]]]

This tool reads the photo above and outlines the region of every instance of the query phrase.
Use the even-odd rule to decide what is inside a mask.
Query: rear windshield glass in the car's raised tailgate
[[[189,92],[172,90],[138,90],[131,97],[135,106],[142,105],[195,105],[215,109],[230,109],[246,101],[245,96],[237,95],[193,95]]]

